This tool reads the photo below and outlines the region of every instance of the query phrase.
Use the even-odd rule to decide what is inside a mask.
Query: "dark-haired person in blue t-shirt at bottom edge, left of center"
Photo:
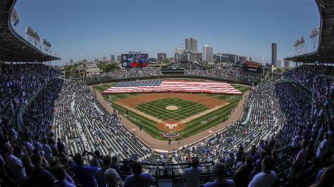
[[[140,162],[132,162],[131,169],[133,174],[126,177],[123,187],[149,187],[156,182],[151,174],[142,173]]]

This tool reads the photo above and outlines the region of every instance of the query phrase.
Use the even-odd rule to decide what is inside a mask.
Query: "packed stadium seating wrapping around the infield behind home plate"
[[[34,68],[39,68],[39,71],[33,70]],[[199,70],[193,71],[190,73]],[[209,77],[206,73],[204,76]],[[297,76],[293,75],[294,72],[290,73],[291,77]],[[115,155],[119,160],[128,160],[131,155],[137,155],[143,163],[144,172],[152,174],[156,184],[183,186],[182,174],[191,157],[198,157],[202,163],[204,172],[199,181],[203,185],[213,180],[211,170],[214,163],[225,162],[225,177],[233,179],[242,165],[242,155],[251,155],[254,165],[258,165],[256,160],[259,160],[262,150],[266,150],[266,154],[271,155],[275,162],[273,171],[276,172],[277,179],[273,186],[307,186],[314,183],[321,167],[330,165],[329,160],[333,154],[334,118],[330,112],[333,110],[330,107],[333,100],[333,82],[328,78],[313,77],[310,92],[299,87],[300,84],[306,85],[303,82],[262,82],[247,96],[242,122],[233,122],[223,131],[172,153],[154,153],[120,123],[117,111],[106,111],[94,92],[83,82],[58,79],[58,72],[44,65],[32,65],[30,71],[14,72],[13,75],[11,72],[1,75],[0,107],[1,146],[10,142],[14,146],[14,155],[25,153],[30,148],[29,143],[34,146],[41,143],[51,148],[52,156],[59,156],[56,141],[53,139],[60,138],[62,142],[59,143],[65,146],[65,153],[70,160],[73,155],[84,150],[99,150],[101,158],[102,155]],[[22,78],[27,85],[23,84]],[[39,89],[42,90],[37,93]],[[18,109],[26,105],[36,93],[37,97],[24,111],[23,128],[16,127]],[[325,155],[318,158],[317,149],[319,143],[324,141],[324,133],[330,134],[330,146]],[[35,139],[36,135],[41,139],[47,138],[47,141]],[[302,172],[291,178],[289,175],[302,138],[310,142],[309,154],[302,166]],[[7,151],[4,149],[1,153],[6,162]],[[85,156],[85,164],[92,165],[93,158],[91,155]],[[20,156],[18,159],[22,162],[25,160]],[[52,157],[47,160],[52,162]],[[120,167],[123,165],[125,164]],[[47,166],[44,167],[48,169]],[[9,162],[4,168],[5,172],[1,170],[1,183],[20,183],[15,174],[11,173],[12,166]],[[66,171],[73,176],[75,184],[80,186],[75,169],[67,167]],[[256,172],[260,171],[254,170],[252,174]],[[120,174],[124,180],[131,173]]]

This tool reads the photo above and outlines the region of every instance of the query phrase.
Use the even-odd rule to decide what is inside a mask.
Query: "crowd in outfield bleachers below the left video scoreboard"
[[[162,73],[156,67],[138,67],[138,68],[113,70],[112,72],[104,72],[95,75],[87,75],[87,80],[101,81],[105,79],[128,79],[128,78],[150,77],[159,75],[162,75]]]

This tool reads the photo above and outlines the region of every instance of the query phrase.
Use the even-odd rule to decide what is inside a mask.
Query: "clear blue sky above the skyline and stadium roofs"
[[[271,61],[291,55],[299,37],[320,25],[314,0],[18,0],[19,32],[26,26],[48,39],[66,63],[128,51],[173,56],[186,37],[229,52]],[[81,56],[82,54],[82,56]]]

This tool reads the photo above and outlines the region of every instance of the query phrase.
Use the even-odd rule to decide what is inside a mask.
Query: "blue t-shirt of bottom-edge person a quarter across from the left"
[[[97,186],[97,181],[95,180],[95,174],[97,174],[98,167],[91,167],[83,165],[78,167],[74,162],[72,164],[75,174],[77,174],[81,186]]]

